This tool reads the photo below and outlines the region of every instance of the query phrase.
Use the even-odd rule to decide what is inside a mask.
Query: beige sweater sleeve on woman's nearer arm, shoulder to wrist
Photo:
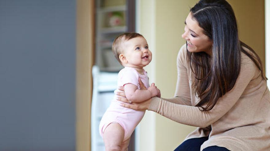
[[[199,107],[176,104],[158,97],[152,98],[149,110],[178,123],[204,128],[220,119],[234,106],[255,74],[256,66],[251,60],[241,63],[234,87],[219,98],[210,111],[200,111]]]

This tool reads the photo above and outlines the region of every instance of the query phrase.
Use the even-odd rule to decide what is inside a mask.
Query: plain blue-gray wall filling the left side
[[[0,150],[75,150],[75,0],[0,0]]]

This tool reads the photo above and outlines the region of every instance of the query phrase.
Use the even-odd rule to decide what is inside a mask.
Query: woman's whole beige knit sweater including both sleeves
[[[241,53],[241,70],[229,92],[210,111],[195,107],[194,74],[187,59],[186,45],[177,57],[178,78],[174,98],[152,98],[149,110],[178,123],[198,127],[186,139],[209,136],[208,146],[232,151],[270,151],[270,95],[266,81],[251,59]]]

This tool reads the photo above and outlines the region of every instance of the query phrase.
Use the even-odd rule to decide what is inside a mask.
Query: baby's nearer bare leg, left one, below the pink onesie
[[[121,151],[125,131],[118,123],[111,123],[103,134],[106,151]]]

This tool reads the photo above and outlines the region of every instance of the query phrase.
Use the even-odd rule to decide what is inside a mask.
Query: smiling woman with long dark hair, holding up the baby
[[[176,150],[270,149],[270,96],[260,58],[238,39],[225,0],[200,0],[185,20],[175,97],[123,104],[198,127]],[[120,88],[121,89],[121,88]],[[125,96],[124,92],[119,93]],[[129,102],[126,98],[119,98]]]

